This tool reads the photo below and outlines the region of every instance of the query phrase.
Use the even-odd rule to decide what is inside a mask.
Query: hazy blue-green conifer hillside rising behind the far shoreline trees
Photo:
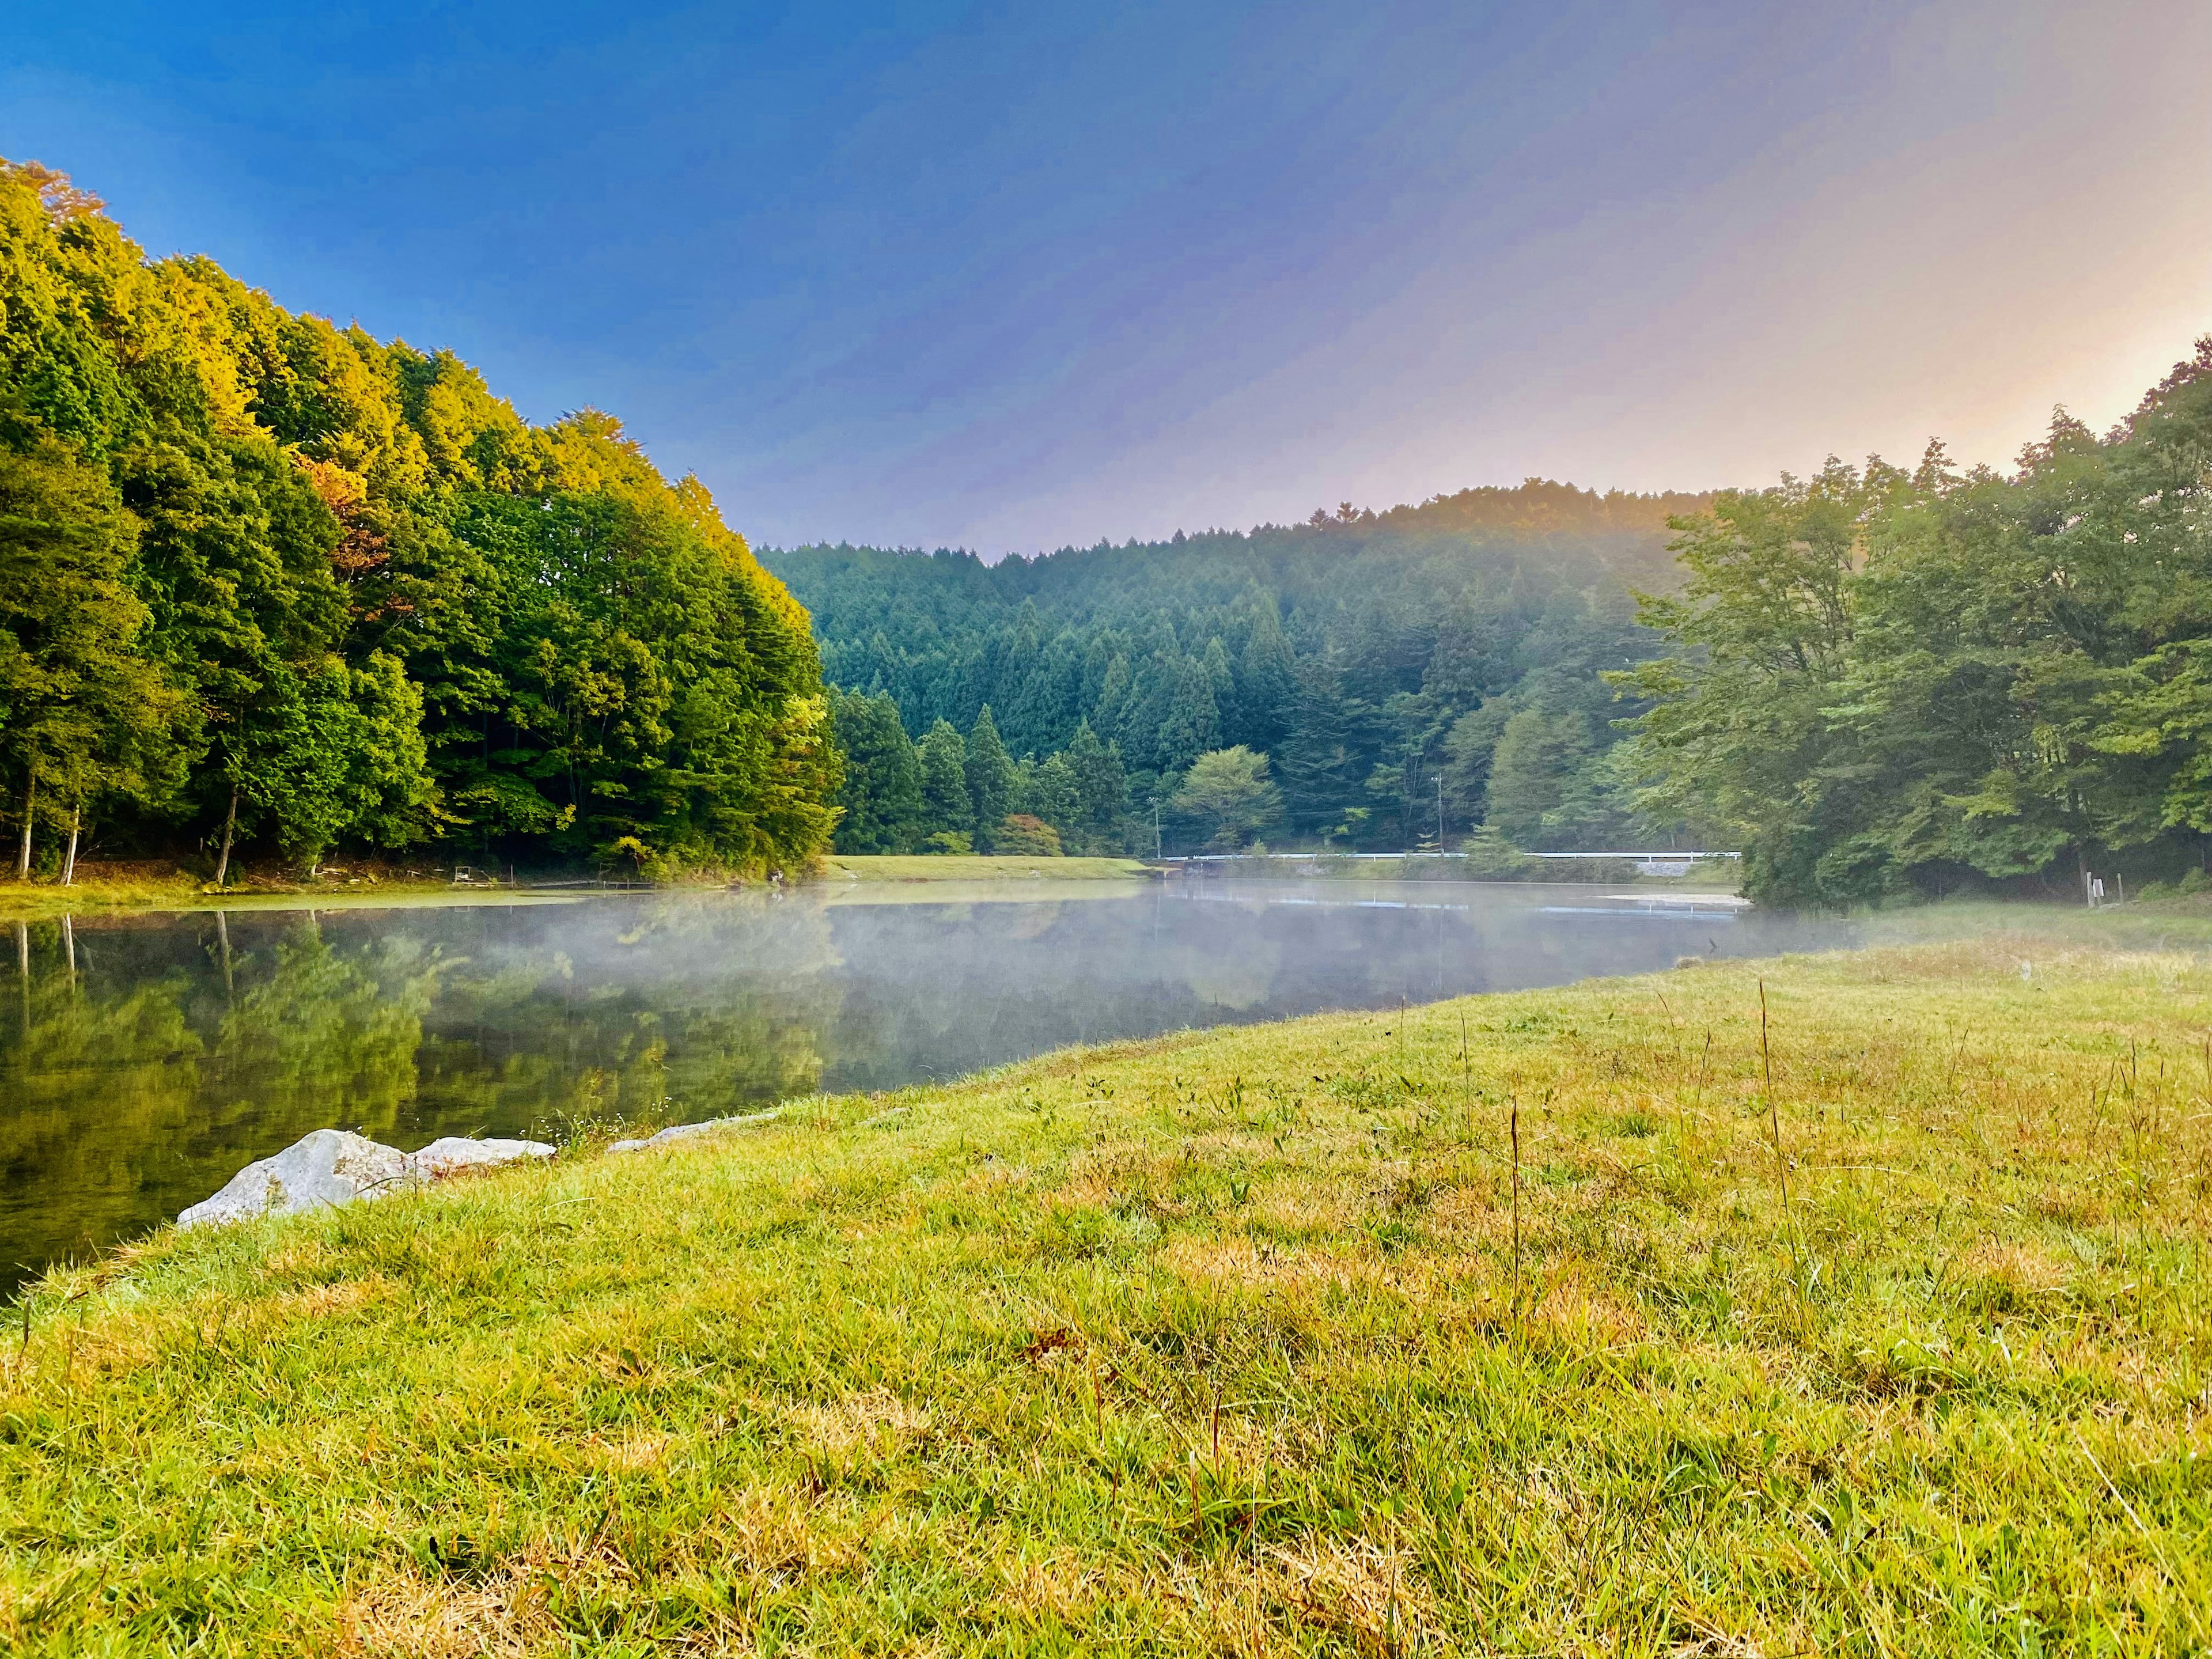
[[[887,690],[911,734],[971,730],[989,703],[1006,750],[1042,763],[1088,728],[1146,807],[1146,852],[1150,801],[1237,745],[1270,757],[1294,832],[1356,823],[1365,845],[1409,845],[1436,832],[1447,734],[1486,699],[1579,712],[1595,748],[1617,741],[1610,721],[1641,706],[1615,706],[1599,672],[1657,644],[1624,584],[1668,584],[1666,520],[1703,502],[1531,480],[991,566],[852,546],[768,560],[814,613],[827,677]],[[1482,772],[1447,779],[1453,832],[1480,823]],[[1579,787],[1615,774],[1593,765]],[[1555,838],[1617,834],[1624,803],[1604,807]],[[1091,845],[1128,845],[1124,814],[1093,810]]]

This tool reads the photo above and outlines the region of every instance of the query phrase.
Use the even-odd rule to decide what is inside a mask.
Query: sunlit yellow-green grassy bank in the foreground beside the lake
[[[164,1234],[9,1314],[0,1650],[2205,1652],[2208,1026],[1924,942]]]

